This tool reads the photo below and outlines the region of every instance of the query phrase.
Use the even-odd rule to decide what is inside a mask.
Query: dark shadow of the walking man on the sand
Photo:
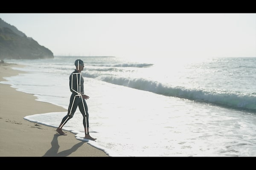
[[[60,153],[58,153],[58,149],[60,148],[60,145],[58,144],[58,136],[61,135],[55,134],[53,136],[51,142],[52,147],[44,154],[44,156],[69,156],[71,153],[75,152],[79,147],[81,147],[84,144],[84,142],[80,142],[78,144],[75,144],[70,149],[63,150]]]

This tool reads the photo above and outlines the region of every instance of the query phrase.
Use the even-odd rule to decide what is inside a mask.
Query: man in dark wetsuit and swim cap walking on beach
[[[70,104],[68,107],[67,115],[61,121],[61,124],[57,128],[57,132],[61,135],[67,135],[62,131],[62,127],[71,119],[76,111],[77,106],[83,115],[83,124],[85,131],[85,139],[96,140],[89,135],[89,114],[88,107],[85,99],[89,99],[89,96],[84,94],[84,78],[81,75],[81,71],[84,69],[84,62],[81,59],[75,61],[76,69],[70,74],[70,91],[72,92],[70,96]]]

